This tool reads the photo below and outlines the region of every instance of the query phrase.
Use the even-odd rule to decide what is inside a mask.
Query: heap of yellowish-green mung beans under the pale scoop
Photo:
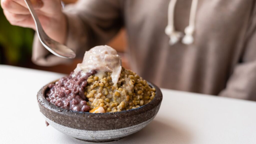
[[[143,106],[155,97],[155,88],[131,70],[122,68],[117,87],[113,86],[111,73],[106,72],[102,79],[91,75],[87,79],[84,95],[87,105],[94,112],[99,107],[105,112],[117,112]]]

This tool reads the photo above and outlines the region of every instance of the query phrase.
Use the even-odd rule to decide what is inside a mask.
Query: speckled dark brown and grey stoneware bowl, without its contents
[[[38,105],[46,121],[62,133],[95,143],[117,141],[141,130],[156,116],[163,98],[160,89],[148,83],[156,89],[155,98],[148,104],[121,112],[93,114],[63,109],[48,102],[45,92],[49,84],[37,94]]]

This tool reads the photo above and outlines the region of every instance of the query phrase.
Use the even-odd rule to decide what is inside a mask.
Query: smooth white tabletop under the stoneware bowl
[[[84,143],[45,120],[37,91],[63,74],[0,65],[0,143]],[[115,143],[255,144],[256,102],[162,89],[155,119],[141,131]],[[12,106],[10,106],[12,105]]]

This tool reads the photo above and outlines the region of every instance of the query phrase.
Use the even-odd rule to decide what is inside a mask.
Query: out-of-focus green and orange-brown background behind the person
[[[65,4],[75,3],[77,0],[63,0]],[[3,14],[0,6],[0,64],[27,67],[33,69],[54,71],[69,74],[82,58],[74,59],[72,64],[52,67],[37,66],[31,61],[32,44],[35,31],[29,28],[12,26]],[[116,49],[122,57],[123,67],[129,68],[124,52],[126,48],[125,30],[121,29],[116,37],[108,44]]]

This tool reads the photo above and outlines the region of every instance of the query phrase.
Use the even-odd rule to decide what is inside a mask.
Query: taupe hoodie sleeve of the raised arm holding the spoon
[[[96,45],[106,44],[123,26],[119,0],[79,0],[63,9],[67,17],[66,45],[82,57]],[[41,66],[70,63],[72,59],[57,57],[34,37],[32,61]]]

